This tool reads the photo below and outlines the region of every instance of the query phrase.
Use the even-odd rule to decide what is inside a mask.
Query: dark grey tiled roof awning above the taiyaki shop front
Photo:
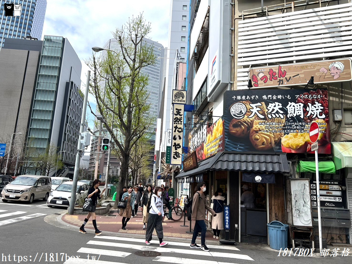
[[[285,153],[281,154],[237,154],[233,152],[219,152],[199,163],[198,168],[184,172],[175,178],[201,174],[210,170],[230,170],[247,172],[290,172]]]

